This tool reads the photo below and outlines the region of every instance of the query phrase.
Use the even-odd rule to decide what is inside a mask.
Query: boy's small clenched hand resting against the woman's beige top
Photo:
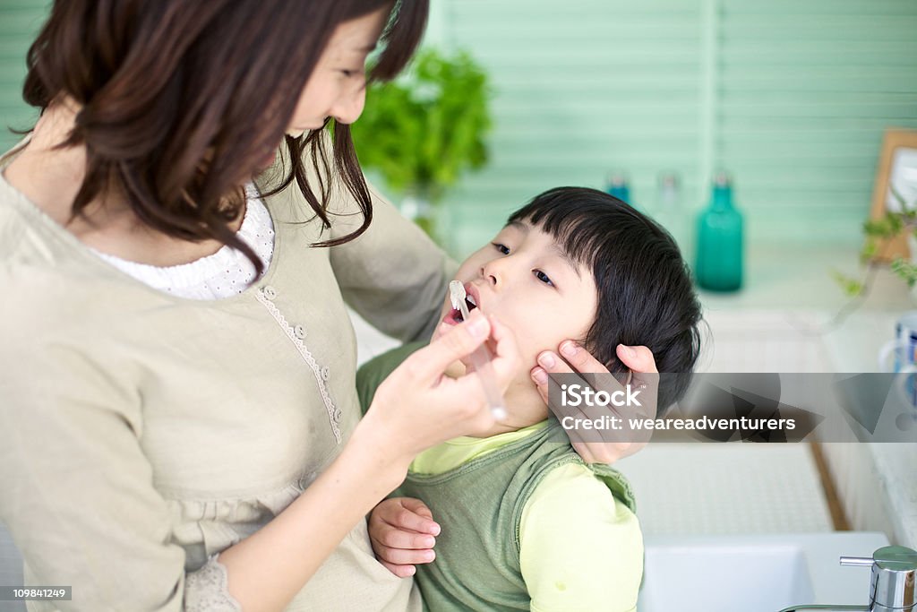
[[[414,563],[436,558],[439,525],[424,502],[414,497],[383,499],[370,513],[370,542],[376,558],[399,578],[413,576]]]

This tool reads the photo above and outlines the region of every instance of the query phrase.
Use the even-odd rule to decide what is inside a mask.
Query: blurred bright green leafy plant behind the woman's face
[[[381,173],[434,239],[447,188],[487,161],[488,98],[487,76],[467,52],[421,50],[403,75],[370,86],[352,127],[361,165]]]

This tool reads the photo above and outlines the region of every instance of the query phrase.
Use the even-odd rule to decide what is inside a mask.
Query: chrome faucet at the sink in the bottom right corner
[[[865,612],[917,612],[917,551],[903,546],[883,546],[869,557],[841,557],[841,565],[872,568],[867,606],[790,606],[798,610],[863,610]]]

